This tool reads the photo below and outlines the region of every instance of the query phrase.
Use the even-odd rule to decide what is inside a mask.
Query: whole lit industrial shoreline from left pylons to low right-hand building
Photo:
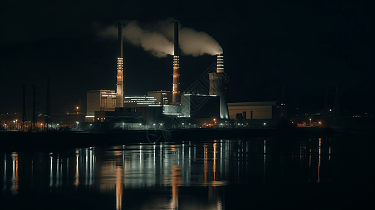
[[[50,120],[49,89],[46,114],[35,111],[33,87],[33,117],[25,116],[25,85],[22,119],[1,114],[3,130],[146,130],[155,126],[163,129],[276,127],[280,117],[278,102],[237,102],[226,100],[224,55],[216,55],[216,64],[206,72],[206,87],[180,90],[179,22],[174,21],[171,90],[149,90],[144,95],[125,95],[123,71],[123,22],[118,22],[118,56],[115,90],[87,91],[86,113],[81,112],[81,101],[74,111],[64,111]],[[215,55],[217,52],[214,52]],[[183,65],[183,64],[182,64]],[[182,73],[184,76],[184,73]],[[127,78],[137,80],[137,78]],[[49,88],[49,83],[48,83]],[[207,89],[207,90],[205,90]],[[282,105],[282,104],[281,104]],[[84,110],[84,109],[83,109]],[[42,120],[45,117],[46,120]],[[13,118],[15,120],[13,120]],[[12,119],[12,120],[9,120]],[[58,120],[55,120],[58,119]],[[10,123],[9,123],[10,122]]]

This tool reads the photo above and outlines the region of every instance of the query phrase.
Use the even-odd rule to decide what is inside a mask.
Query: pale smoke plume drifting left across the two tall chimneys
[[[140,27],[137,21],[125,23],[123,37],[134,45],[139,45],[144,50],[151,52],[156,57],[173,55],[173,30],[174,20],[161,20],[154,24]],[[111,26],[99,31],[99,36],[104,38],[117,38],[118,27]],[[223,52],[219,43],[202,31],[189,27],[179,26],[179,48],[182,54],[192,55],[217,55]]]

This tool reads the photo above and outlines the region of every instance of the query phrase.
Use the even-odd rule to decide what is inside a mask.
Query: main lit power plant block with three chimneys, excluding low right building
[[[123,23],[118,22],[117,84],[114,90],[87,92],[86,122],[111,122],[112,128],[142,129],[164,122],[171,127],[233,127],[234,117],[244,104],[226,102],[224,55],[217,54],[216,71],[208,72],[209,87],[202,92],[180,92],[179,83],[179,22],[174,21],[172,91],[154,90],[147,96],[125,96],[123,89]],[[213,70],[212,70],[213,71]],[[135,78],[132,78],[135,79]],[[249,106],[246,106],[248,109]],[[245,108],[244,108],[245,109]],[[247,110],[249,113],[250,111]],[[245,111],[240,111],[245,113]],[[254,115],[256,116],[256,115]],[[269,115],[268,115],[269,116]],[[244,116],[246,118],[246,116]],[[162,125],[163,123],[161,123]]]

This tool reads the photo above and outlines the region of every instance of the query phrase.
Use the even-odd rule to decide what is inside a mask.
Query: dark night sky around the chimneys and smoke
[[[280,100],[288,109],[374,113],[374,1],[1,1],[0,111],[22,112],[22,84],[32,110],[44,112],[50,79],[53,113],[86,109],[86,91],[116,87],[116,40],[95,25],[175,18],[210,34],[224,50],[229,102]],[[216,57],[182,56],[181,90],[201,82]],[[124,43],[125,93],[172,89],[172,57]]]

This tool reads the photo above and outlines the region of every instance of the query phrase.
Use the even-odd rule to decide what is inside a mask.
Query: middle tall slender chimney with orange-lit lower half
[[[172,86],[172,103],[177,104],[181,102],[179,94],[179,22],[175,20],[174,44],[175,53],[173,55],[173,86]]]

